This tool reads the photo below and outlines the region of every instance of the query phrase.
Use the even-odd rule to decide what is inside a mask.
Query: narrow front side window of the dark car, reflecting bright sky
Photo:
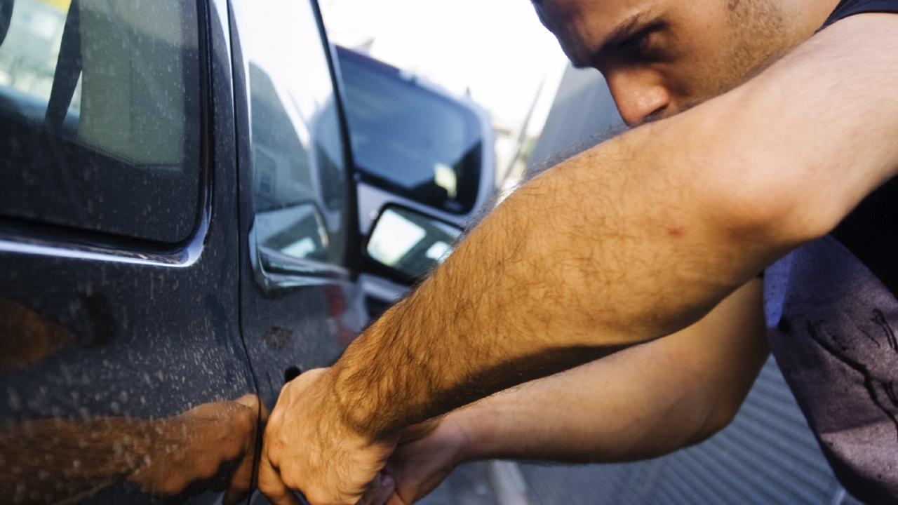
[[[345,146],[328,49],[313,5],[308,0],[234,5],[250,93],[257,246],[282,260],[274,264],[342,264]]]

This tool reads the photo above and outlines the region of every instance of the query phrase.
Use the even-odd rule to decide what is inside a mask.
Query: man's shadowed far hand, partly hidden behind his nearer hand
[[[395,483],[395,491],[378,494],[374,504],[410,505],[427,496],[466,459],[469,440],[453,414],[405,430],[383,469],[384,479]]]

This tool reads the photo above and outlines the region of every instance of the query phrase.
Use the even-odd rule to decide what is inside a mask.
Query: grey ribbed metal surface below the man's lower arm
[[[735,421],[695,447],[621,465],[522,465],[533,505],[849,503],[776,363]]]

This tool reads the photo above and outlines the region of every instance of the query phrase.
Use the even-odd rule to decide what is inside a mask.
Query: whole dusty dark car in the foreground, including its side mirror
[[[340,86],[314,0],[0,0],[4,502],[265,502],[282,385],[475,211],[357,172]]]

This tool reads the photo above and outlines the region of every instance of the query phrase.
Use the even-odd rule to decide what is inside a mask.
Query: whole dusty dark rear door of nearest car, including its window
[[[239,501],[260,403],[224,3],[0,4],[2,501]]]

